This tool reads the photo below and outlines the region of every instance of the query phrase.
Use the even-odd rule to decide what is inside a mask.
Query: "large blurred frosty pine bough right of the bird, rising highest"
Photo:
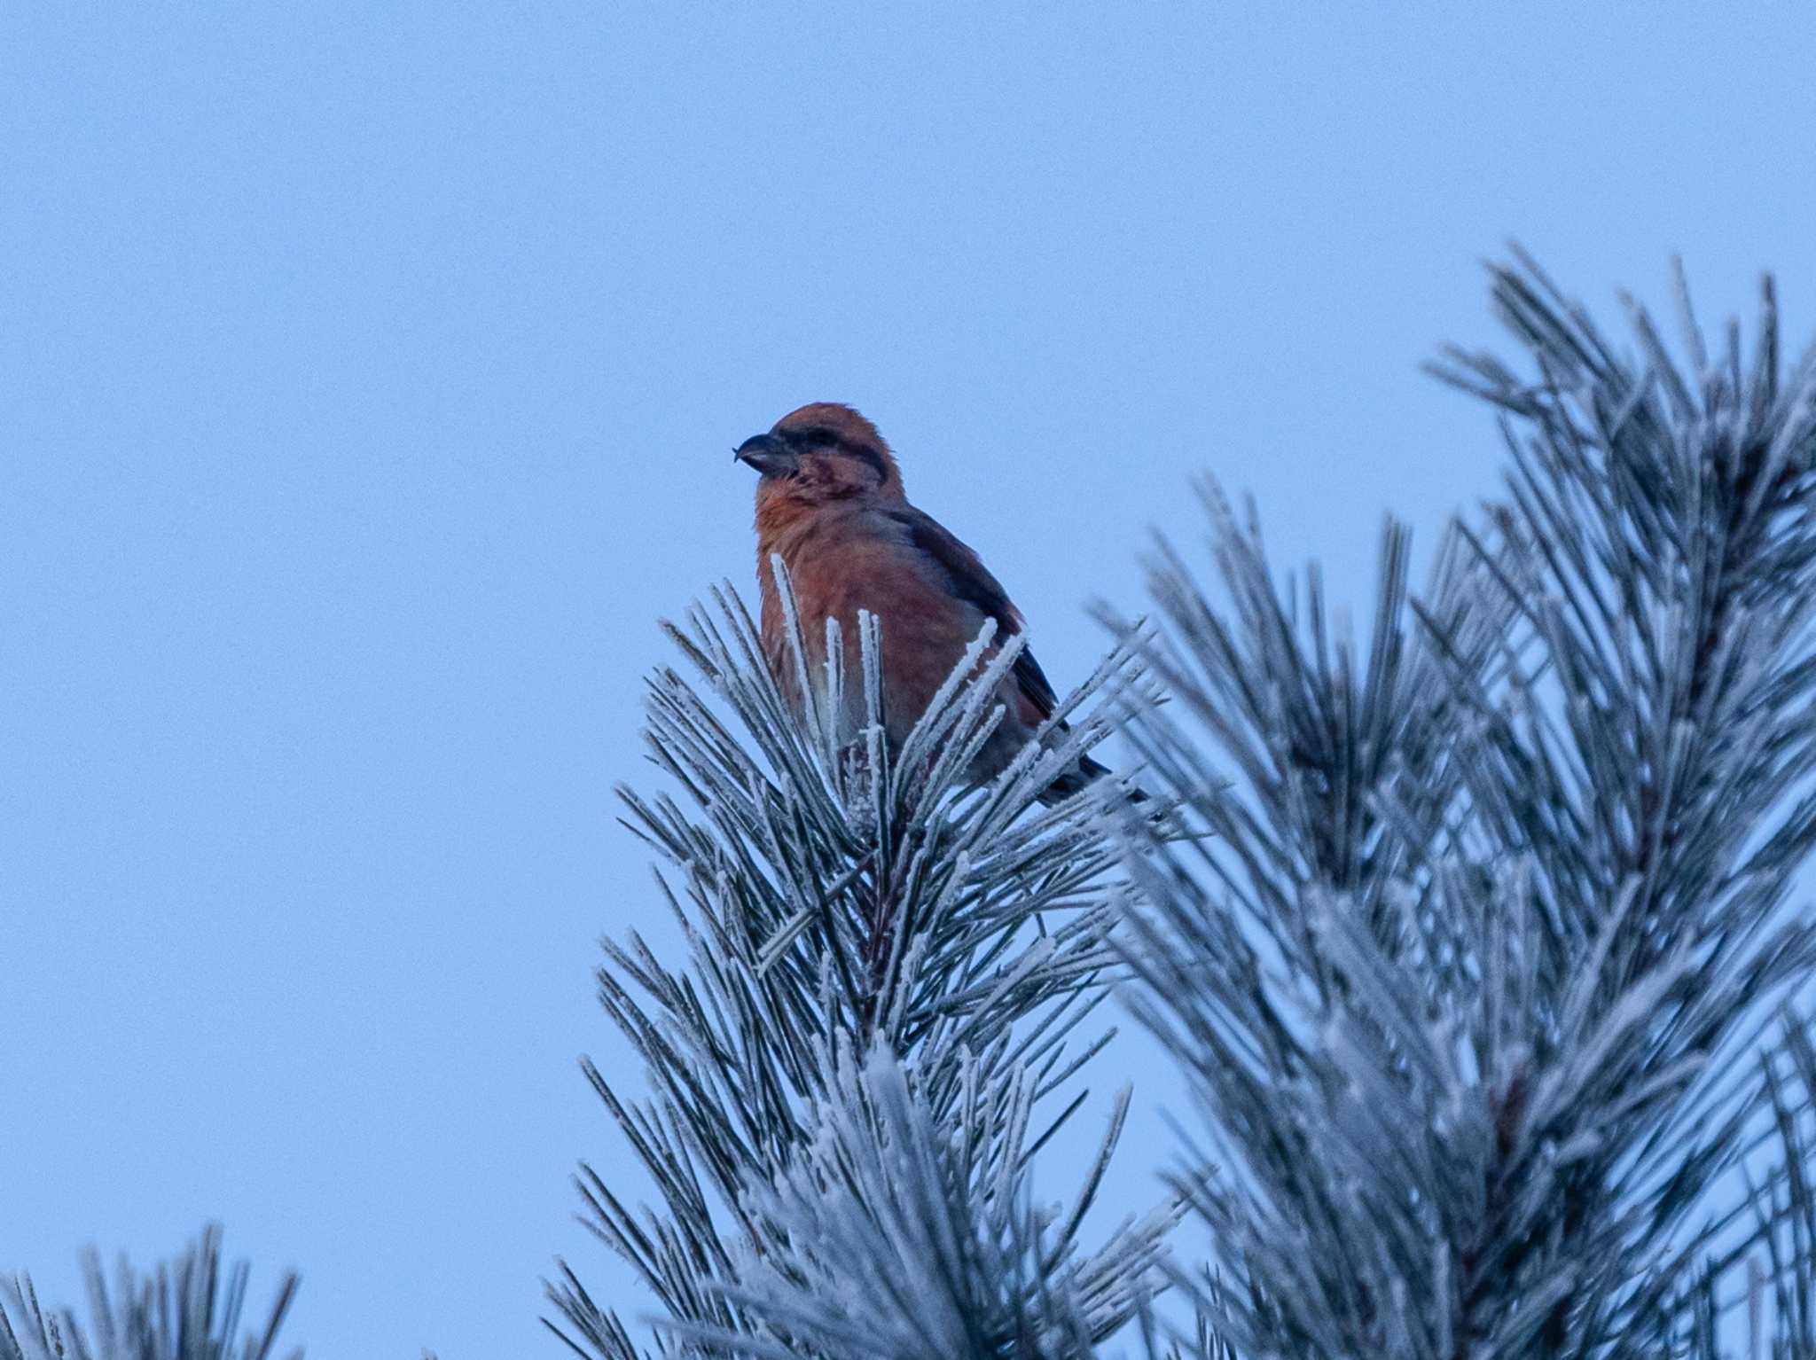
[[[1762,1108],[1723,1073],[1816,962],[1783,912],[1816,837],[1816,372],[1780,376],[1769,292],[1751,367],[1731,340],[1689,374],[1529,265],[1495,300],[1536,378],[1444,372],[1507,414],[1507,503],[1416,603],[1389,527],[1366,654],[1215,492],[1233,619],[1177,552],[1150,568],[1142,657],[1193,726],[1133,734],[1215,841],[1130,823],[1135,1011],[1197,1084],[1177,1180],[1239,1355],[1702,1345],[1740,1258],[1711,1188]]]

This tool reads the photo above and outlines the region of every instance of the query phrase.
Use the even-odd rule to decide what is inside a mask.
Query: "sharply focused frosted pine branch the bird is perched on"
[[[792,601],[785,576],[779,585]],[[752,1355],[806,1345],[788,1340],[786,1315],[803,1336],[819,1336],[799,1353],[848,1355],[839,1347],[855,1316],[834,1326],[815,1313],[808,1327],[795,1316],[799,1300],[779,1302],[832,1267],[788,1227],[810,1220],[830,1231],[824,1215],[834,1209],[812,1207],[804,1189],[832,1186],[814,1162],[826,1138],[848,1158],[859,1155],[857,1129],[903,1138],[939,1129],[962,1149],[935,1158],[944,1197],[923,1178],[906,1200],[843,1200],[837,1215],[873,1215],[844,1224],[854,1244],[872,1242],[875,1222],[932,1233],[944,1218],[968,1224],[962,1233],[939,1229],[961,1257],[1002,1249],[1010,1229],[1024,1246],[1044,1240],[1028,1222],[1001,1220],[1002,1195],[1022,1195],[1028,1158],[1082,1093],[1030,1135],[1035,1109],[1108,1040],[1100,1035],[1082,1051],[1071,1042],[1120,970],[1111,931],[1124,886],[1117,844],[1095,813],[1119,795],[1100,788],[1055,808],[1039,799],[1120,712],[1146,701],[1146,690],[1124,657],[1111,657],[1062,706],[1070,732],[1051,726],[990,786],[970,788],[966,768],[1001,717],[997,685],[1019,637],[997,645],[986,628],[893,750],[883,741],[873,619],[861,619],[859,675],[841,670],[835,623],[824,672],[808,665],[794,628],[795,681],[810,695],[804,721],[795,721],[748,612],[728,588],[714,605],[694,610],[688,626],[668,628],[699,686],[672,668],[650,679],[650,759],[679,793],[623,790],[627,826],[665,861],[657,893],[688,962],[665,964],[636,931],[607,942],[599,999],[641,1059],[650,1095],[627,1097],[587,1064],[661,1207],[628,1206],[590,1166],[581,1168],[581,1195],[592,1229],[666,1315],[663,1353],[735,1349],[730,1338]],[[1081,705],[1093,705],[1082,719]],[[852,712],[863,717],[846,726]],[[854,1055],[870,1055],[868,1066]],[[899,1064],[912,1106],[879,1104],[875,1091],[854,1086],[859,1066],[881,1080],[877,1073],[895,1071],[886,1064]],[[854,1113],[854,1100],[868,1113]],[[879,1124],[883,1108],[901,1119]],[[1010,1148],[1019,1151],[1006,1160]],[[908,1175],[899,1162],[906,1144],[873,1155],[884,1160],[868,1164],[864,1184],[879,1193]],[[932,1164],[915,1166],[921,1175]],[[910,1209],[935,1218],[910,1224]],[[1133,1238],[1066,1276],[1077,1295],[1068,1316],[1082,1318],[1088,1335],[1119,1326],[1128,1300],[1153,1287],[1164,1217],[1130,1231]],[[1071,1260],[1070,1235],[1064,1246],[1061,1257]],[[961,1257],[928,1267],[957,1269]],[[1030,1275],[1028,1289],[1059,1289],[1061,1257]],[[637,1355],[625,1324],[567,1267],[550,1296],[574,1349]],[[1012,1300],[1048,1316],[1046,1304],[1019,1287],[999,1296],[1004,1307]],[[859,1347],[864,1355],[897,1336],[886,1311],[870,1322],[875,1345]]]

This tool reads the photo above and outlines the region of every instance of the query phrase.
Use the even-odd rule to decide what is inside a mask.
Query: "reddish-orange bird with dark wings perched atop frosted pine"
[[[810,666],[824,665],[826,619],[837,619],[844,672],[861,674],[857,614],[868,610],[877,617],[884,735],[893,750],[901,748],[986,619],[995,623],[993,648],[1026,632],[1021,610],[982,559],[933,516],[908,503],[895,454],[855,409],[812,401],[790,410],[768,432],[745,439],[734,458],[759,474],[759,634],[765,659],[797,719],[804,703],[770,567],[774,556],[788,568]],[[857,685],[848,692],[855,699]],[[968,770],[977,784],[1001,774],[1059,705],[1026,646],[1002,675],[995,697],[1004,712]],[[1066,724],[1057,723],[1055,730],[1064,732]],[[1041,801],[1061,803],[1108,774],[1104,764],[1079,755],[1042,790]],[[1128,793],[1140,799],[1139,790]]]

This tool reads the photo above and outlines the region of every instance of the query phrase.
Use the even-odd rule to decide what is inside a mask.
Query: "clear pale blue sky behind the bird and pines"
[[[879,9],[7,7],[0,1267],[220,1217],[321,1360],[554,1355],[558,1251],[621,1293],[610,786],[799,401],[1066,685],[1195,468],[1355,599],[1491,488],[1416,361],[1507,236],[1816,323],[1801,7]]]

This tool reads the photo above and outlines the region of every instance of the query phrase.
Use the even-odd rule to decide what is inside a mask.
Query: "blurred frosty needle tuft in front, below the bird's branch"
[[[1057,1218],[1028,1186],[1028,1079],[1006,1099],[973,1073],[944,1119],[886,1046],[841,1060],[839,1097],[815,1137],[746,1211],[774,1226],[775,1249],[743,1264],[725,1293],[768,1336],[674,1324],[710,1355],[864,1355],[888,1360],[1090,1356],[1146,1304],[1173,1217],[1128,1222],[1093,1255],[1077,1227],[1093,1175]],[[1115,1144],[1117,1102],[1099,1173]],[[952,1128],[964,1131],[955,1146]],[[979,1209],[982,1209],[979,1213]]]

